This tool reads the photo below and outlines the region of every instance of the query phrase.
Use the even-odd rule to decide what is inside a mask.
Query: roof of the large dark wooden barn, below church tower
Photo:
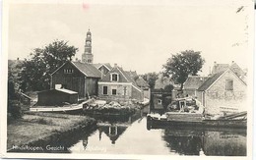
[[[101,78],[101,73],[96,69],[96,67],[89,63],[82,62],[72,62],[67,61],[57,70],[55,70],[51,75],[54,75],[57,71],[59,71],[65,64],[71,63],[75,68],[77,68],[82,74],[89,78]]]

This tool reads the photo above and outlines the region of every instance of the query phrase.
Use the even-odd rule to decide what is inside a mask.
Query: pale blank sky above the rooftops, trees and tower
[[[214,61],[235,61],[248,68],[248,4],[242,0],[11,3],[8,59],[28,58],[33,48],[54,39],[78,47],[76,58],[81,59],[90,28],[95,63],[117,63],[139,74],[160,72],[171,54],[193,49],[206,60],[202,75],[209,74]]]

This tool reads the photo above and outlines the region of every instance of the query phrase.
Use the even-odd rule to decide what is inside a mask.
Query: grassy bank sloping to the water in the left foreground
[[[54,141],[58,143],[63,138],[69,139],[70,133],[95,128],[96,120],[86,116],[27,113],[22,119],[7,126],[7,150],[14,146],[42,146]]]

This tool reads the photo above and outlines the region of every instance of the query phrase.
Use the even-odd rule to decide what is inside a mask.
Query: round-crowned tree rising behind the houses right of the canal
[[[172,55],[167,59],[164,68],[164,74],[170,76],[172,80],[180,83],[180,89],[183,88],[183,83],[187,80],[188,75],[196,76],[201,71],[205,60],[201,57],[201,52],[193,50],[181,51]]]

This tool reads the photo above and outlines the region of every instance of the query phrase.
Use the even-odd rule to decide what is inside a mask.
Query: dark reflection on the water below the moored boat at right
[[[246,155],[246,130],[226,132],[186,129],[165,129],[163,139],[170,151],[184,155]]]

